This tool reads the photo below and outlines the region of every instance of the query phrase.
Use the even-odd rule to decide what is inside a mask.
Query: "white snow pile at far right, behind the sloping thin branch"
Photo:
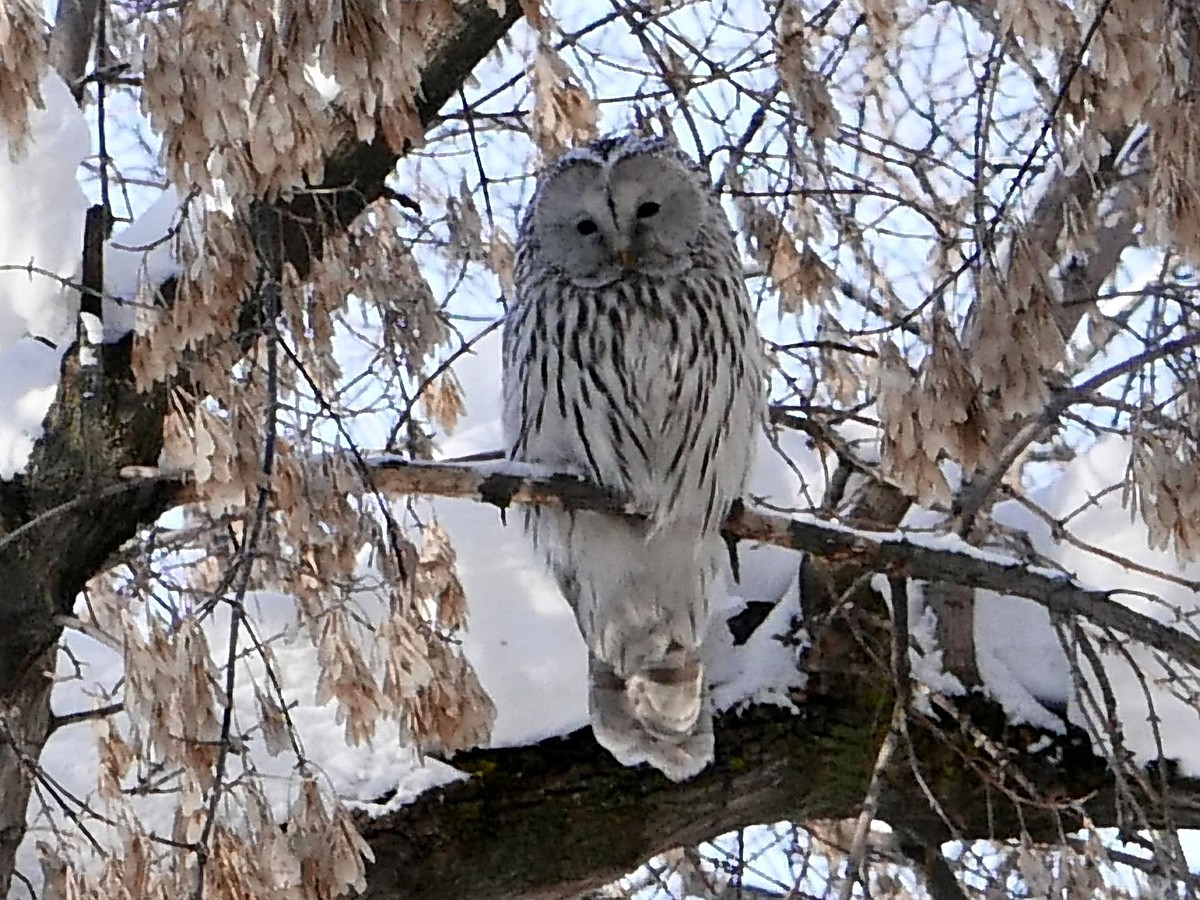
[[[1112,599],[1195,637],[1200,595],[1180,581],[1200,582],[1200,563],[1181,563],[1174,552],[1151,550],[1145,526],[1124,509],[1122,492],[1111,490],[1124,478],[1129,450],[1126,438],[1104,437],[1032,498],[1051,517],[1069,517],[1068,529],[1082,546],[1055,541],[1049,526],[1015,502],[998,506],[996,518],[1028,534],[1039,553],[1084,587],[1129,592]],[[1122,559],[1144,571],[1128,568]],[[1168,577],[1151,574],[1156,571]],[[1091,724],[1088,730],[1108,743],[1100,679],[1080,655],[1074,666],[1084,673],[1085,686],[1075,689],[1067,652],[1045,608],[1021,598],[979,592],[974,631],[980,674],[1012,718],[1049,726],[1045,712],[1038,712],[1040,704],[1066,707],[1073,722]],[[1165,757],[1180,764],[1181,774],[1200,775],[1200,673],[1132,641],[1120,647],[1104,640],[1094,643],[1126,749],[1139,762]]]

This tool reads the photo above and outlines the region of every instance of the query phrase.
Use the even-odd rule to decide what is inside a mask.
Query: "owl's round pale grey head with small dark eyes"
[[[704,172],[673,143],[601,138],[539,175],[521,226],[522,251],[536,269],[578,287],[672,277],[692,268],[714,215],[727,232]]]

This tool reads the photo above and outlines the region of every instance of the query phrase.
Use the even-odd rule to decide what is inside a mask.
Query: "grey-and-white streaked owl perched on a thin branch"
[[[634,136],[544,169],[503,353],[509,458],[636,512],[526,515],[588,648],[593,732],[626,766],[691,778],[713,760],[701,647],[767,371],[707,173],[667,139]]]

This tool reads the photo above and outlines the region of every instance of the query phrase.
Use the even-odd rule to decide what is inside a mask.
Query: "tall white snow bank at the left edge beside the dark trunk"
[[[14,162],[0,138],[0,268],[14,266],[0,270],[0,479],[29,461],[79,308],[62,282],[79,274],[88,198],[76,172],[91,137],[62,79],[52,72],[41,89],[29,151]]]

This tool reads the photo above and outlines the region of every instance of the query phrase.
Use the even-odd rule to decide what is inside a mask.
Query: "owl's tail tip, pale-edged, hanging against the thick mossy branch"
[[[684,781],[713,761],[713,716],[698,659],[622,679],[593,656],[590,682],[592,731],[622,764],[647,762],[672,781]]]

